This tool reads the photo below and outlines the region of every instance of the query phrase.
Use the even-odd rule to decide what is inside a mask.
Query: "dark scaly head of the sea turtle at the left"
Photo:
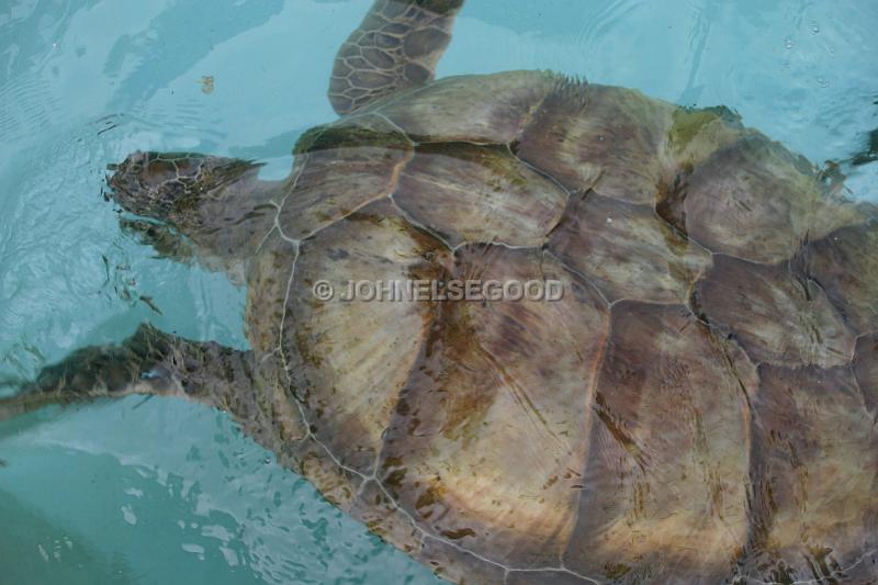
[[[108,178],[112,198],[125,211],[189,224],[207,202],[234,198],[257,181],[259,165],[192,153],[134,153]]]

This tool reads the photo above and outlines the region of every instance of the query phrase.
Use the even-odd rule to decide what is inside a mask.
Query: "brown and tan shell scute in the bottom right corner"
[[[763,567],[840,580],[878,545],[875,412],[849,368],[759,368],[754,542]],[[765,569],[763,569],[765,571]]]

